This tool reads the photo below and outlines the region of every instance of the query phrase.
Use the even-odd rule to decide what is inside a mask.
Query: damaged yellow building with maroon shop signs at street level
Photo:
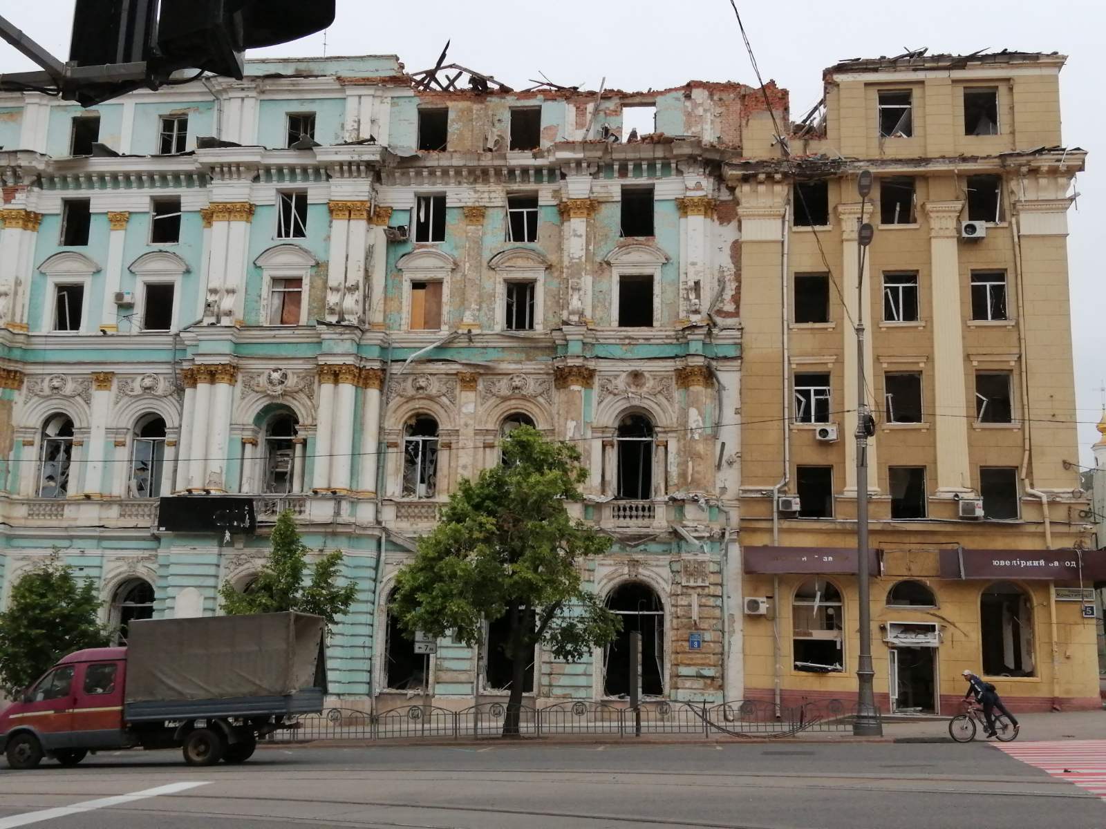
[[[856,693],[859,279],[877,703],[950,713],[971,669],[1014,710],[1100,705],[1078,588],[1106,570],[1082,552],[1086,502],[1065,463],[1066,213],[1085,153],[1061,146],[1064,61],[839,63],[787,157],[726,165],[742,239],[747,697]],[[859,264],[862,211],[875,235]]]

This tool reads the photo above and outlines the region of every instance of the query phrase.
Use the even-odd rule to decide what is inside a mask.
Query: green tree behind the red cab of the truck
[[[56,560],[21,576],[0,613],[0,688],[14,696],[66,653],[105,647],[100,605],[95,583]]]

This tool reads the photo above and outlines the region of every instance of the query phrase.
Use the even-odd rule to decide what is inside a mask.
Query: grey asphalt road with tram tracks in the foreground
[[[18,826],[1094,829],[1106,802],[982,743],[264,747],[237,767],[177,752],[0,764],[0,829]]]

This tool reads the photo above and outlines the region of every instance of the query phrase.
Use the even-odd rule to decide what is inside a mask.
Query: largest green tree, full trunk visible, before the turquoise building
[[[525,671],[535,643],[580,661],[614,639],[622,622],[581,586],[577,564],[611,539],[574,521],[587,471],[568,443],[530,427],[502,442],[503,462],[462,480],[415,559],[397,575],[393,611],[408,634],[452,630],[470,647],[483,625],[507,617],[511,695],[503,734],[519,733]]]

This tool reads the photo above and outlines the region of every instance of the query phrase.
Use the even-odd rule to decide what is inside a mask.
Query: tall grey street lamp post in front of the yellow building
[[[868,590],[868,437],[875,432],[875,421],[868,411],[864,380],[864,253],[875,233],[864,221],[868,193],[872,192],[872,170],[863,170],[856,189],[860,193],[860,214],[856,219],[856,580],[860,608],[860,653],[857,658],[857,707],[853,721],[856,736],[879,736],[883,724],[876,710],[872,668],[872,604]]]

